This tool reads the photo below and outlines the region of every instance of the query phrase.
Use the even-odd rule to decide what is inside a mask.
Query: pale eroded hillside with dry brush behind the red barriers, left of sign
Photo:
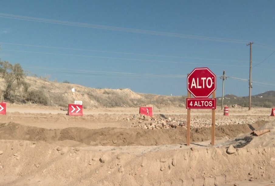
[[[29,84],[27,95],[23,91],[16,93],[18,103],[42,103],[49,106],[67,107],[74,100],[83,101],[84,108],[98,107],[185,107],[183,96],[162,96],[135,93],[130,89],[95,89],[72,83],[57,83],[37,77],[26,77]],[[3,86],[1,86],[2,89]],[[75,89],[72,92],[71,89]],[[24,97],[24,99],[23,99]],[[27,100],[27,101],[26,101]]]

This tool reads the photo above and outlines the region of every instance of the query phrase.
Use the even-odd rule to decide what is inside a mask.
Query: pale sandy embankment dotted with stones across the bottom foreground
[[[139,149],[131,147],[57,147],[18,140],[0,140],[0,144],[1,185],[234,185],[275,175],[274,147],[227,154],[225,147],[154,150],[151,146],[137,156]]]

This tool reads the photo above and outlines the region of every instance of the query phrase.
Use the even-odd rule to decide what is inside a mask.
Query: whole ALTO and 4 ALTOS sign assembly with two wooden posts
[[[211,109],[211,145],[215,144],[216,75],[207,67],[187,74],[187,146],[190,145],[191,109]],[[191,98],[191,94],[195,98]],[[212,94],[212,98],[208,98]]]

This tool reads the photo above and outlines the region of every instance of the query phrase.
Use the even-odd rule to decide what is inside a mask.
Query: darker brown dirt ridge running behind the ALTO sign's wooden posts
[[[234,137],[241,133],[255,130],[266,121],[254,124],[225,125],[216,127],[216,137]],[[146,130],[141,128],[101,128],[87,129],[70,127],[65,129],[45,129],[24,126],[17,123],[2,123],[0,125],[0,139],[29,140],[29,141],[63,141],[74,140],[93,146],[129,146],[129,145],[161,145],[182,144],[186,142],[185,128],[169,128]],[[191,141],[200,142],[211,138],[211,128],[202,127],[191,130]]]

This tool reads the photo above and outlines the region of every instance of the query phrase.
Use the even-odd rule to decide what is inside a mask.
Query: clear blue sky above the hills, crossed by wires
[[[58,82],[164,95],[186,95],[187,73],[208,67],[217,96],[223,70],[225,94],[248,96],[251,41],[255,95],[275,90],[274,7],[271,0],[2,0],[0,58]]]

